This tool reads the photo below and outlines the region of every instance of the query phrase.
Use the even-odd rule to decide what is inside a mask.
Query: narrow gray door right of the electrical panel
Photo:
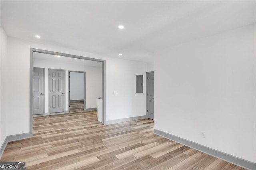
[[[148,73],[148,119],[155,119],[154,117],[154,73]]]

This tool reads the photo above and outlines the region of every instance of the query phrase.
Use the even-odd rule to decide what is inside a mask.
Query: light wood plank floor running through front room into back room
[[[0,161],[26,161],[27,170],[243,170],[154,134],[154,121],[112,125],[97,111],[33,118],[33,137],[9,142]]]

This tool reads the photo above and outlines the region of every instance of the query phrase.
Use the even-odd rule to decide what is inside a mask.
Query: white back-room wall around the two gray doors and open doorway
[[[74,64],[74,63],[64,62],[61,59],[59,61],[33,59],[33,67],[45,68],[45,91],[46,91],[45,112],[46,113],[49,113],[48,69],[64,69],[65,70],[65,111],[68,111],[68,71],[86,72],[86,109],[97,107],[97,97],[102,97],[102,67],[85,66],[83,65],[83,60],[81,60],[81,64]],[[82,85],[82,89],[83,88],[84,87]],[[82,92],[81,99],[83,99],[83,94],[84,93]]]

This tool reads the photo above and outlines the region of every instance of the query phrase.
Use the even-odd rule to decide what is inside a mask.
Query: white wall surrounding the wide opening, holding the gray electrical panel
[[[29,132],[30,48],[106,60],[106,120],[146,115],[146,93],[145,91],[136,93],[136,75],[146,77],[145,62],[112,58],[8,37],[8,63],[11,64],[6,65],[10,70],[8,72],[9,83],[6,88],[9,91],[6,99],[7,135]],[[17,74],[19,76],[16,76]],[[146,89],[146,83],[144,83],[144,89]],[[117,91],[117,95],[113,94],[114,91]],[[16,107],[13,107],[14,104]]]

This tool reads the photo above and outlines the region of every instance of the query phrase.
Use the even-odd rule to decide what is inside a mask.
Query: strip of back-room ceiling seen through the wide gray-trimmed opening
[[[71,57],[56,57],[56,55],[45,54],[45,53],[37,53],[33,52],[33,59],[40,59],[46,61],[53,61],[58,63],[71,63],[75,65],[83,65],[83,66],[92,66],[92,67],[102,67],[102,62],[99,61],[91,61],[86,59],[77,59]]]

